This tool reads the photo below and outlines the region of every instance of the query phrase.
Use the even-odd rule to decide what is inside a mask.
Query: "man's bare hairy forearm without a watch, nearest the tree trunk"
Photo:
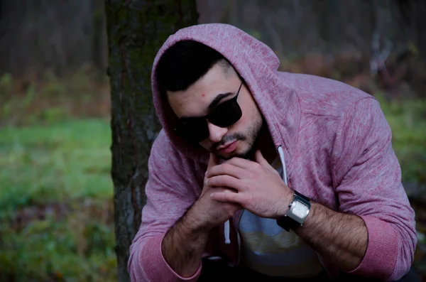
[[[200,267],[208,232],[192,223],[190,212],[176,222],[163,239],[165,261],[180,276],[190,277]]]

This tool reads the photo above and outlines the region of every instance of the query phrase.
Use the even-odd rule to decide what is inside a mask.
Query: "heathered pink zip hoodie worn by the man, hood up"
[[[391,129],[376,99],[334,80],[278,72],[280,61],[268,46],[218,23],[191,26],[170,36],[158,51],[153,74],[164,51],[185,39],[219,51],[244,78],[275,147],[282,148],[290,188],[332,210],[364,219],[368,248],[351,273],[388,281],[407,273],[417,243],[414,212],[401,184]],[[161,99],[154,75],[152,87],[163,130],[148,162],[147,203],[130,248],[131,281],[196,281],[202,266],[194,276],[180,277],[163,258],[161,242],[200,195],[209,155],[173,135],[177,119]],[[217,227],[205,256],[221,256],[231,266],[238,263],[239,214],[226,228],[231,244],[224,242],[224,228]],[[329,275],[337,276],[334,261],[320,258]]]

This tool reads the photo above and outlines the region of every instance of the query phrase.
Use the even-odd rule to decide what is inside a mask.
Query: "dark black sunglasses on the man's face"
[[[238,102],[236,102],[241,86],[243,86],[242,82],[234,98],[217,105],[207,116],[196,117],[190,119],[190,121],[180,123],[175,128],[175,134],[178,134],[178,136],[185,139],[187,142],[200,143],[209,137],[207,120],[219,127],[228,127],[235,124],[242,116],[241,108]]]

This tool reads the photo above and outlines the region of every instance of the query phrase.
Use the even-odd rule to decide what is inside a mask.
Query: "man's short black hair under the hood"
[[[155,75],[162,90],[186,90],[216,63],[231,67],[217,50],[194,40],[182,40],[165,50]]]

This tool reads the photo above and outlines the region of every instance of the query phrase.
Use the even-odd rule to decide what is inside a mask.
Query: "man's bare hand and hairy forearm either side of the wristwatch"
[[[256,163],[232,158],[207,171],[208,184],[227,186],[237,192],[212,192],[220,202],[235,202],[260,217],[278,218],[288,211],[293,192],[280,175],[256,152]],[[354,270],[361,263],[368,245],[368,232],[363,219],[329,210],[312,202],[303,227],[293,230],[315,251],[336,261],[344,271]]]

